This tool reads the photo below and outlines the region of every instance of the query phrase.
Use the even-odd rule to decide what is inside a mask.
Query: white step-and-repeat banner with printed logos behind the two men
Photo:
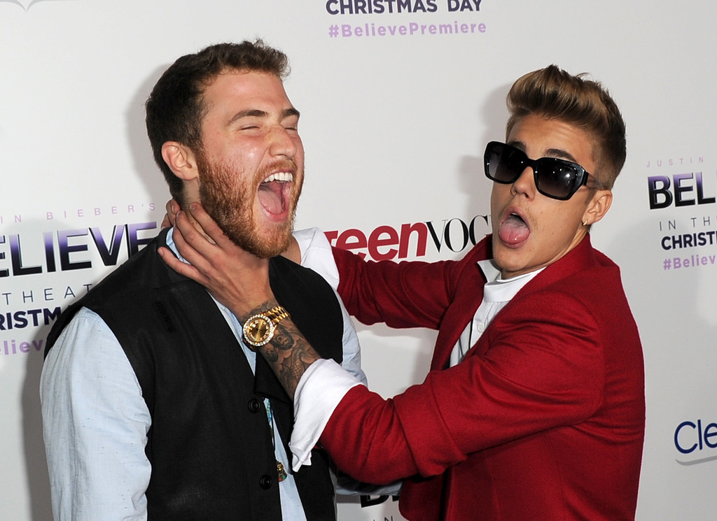
[[[51,519],[38,381],[62,309],[158,231],[143,102],[181,54],[284,50],[307,177],[298,226],[371,258],[488,233],[505,94],[555,63],[604,82],[628,157],[594,244],[622,267],[647,369],[638,518],[717,510],[717,6],[636,0],[0,0],[0,519]],[[409,233],[419,230],[419,233]],[[359,327],[369,383],[421,381],[434,335]],[[391,497],[341,521],[401,520]]]

